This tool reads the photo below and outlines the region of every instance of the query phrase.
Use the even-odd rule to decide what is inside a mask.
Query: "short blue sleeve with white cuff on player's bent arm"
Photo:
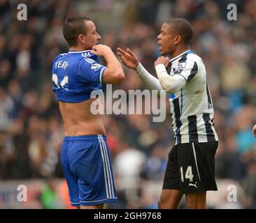
[[[103,74],[106,66],[102,66],[93,59],[81,59],[78,61],[77,72],[85,82],[103,84]]]

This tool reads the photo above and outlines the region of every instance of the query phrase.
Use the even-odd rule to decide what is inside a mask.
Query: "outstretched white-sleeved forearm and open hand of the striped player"
[[[161,84],[159,83],[159,80],[155,78],[153,75],[150,75],[150,73],[145,70],[145,68],[142,66],[141,63],[139,63],[138,58],[136,55],[131,52],[130,49],[127,49],[125,52],[121,48],[118,48],[118,56],[120,56],[120,59],[122,63],[127,67],[135,70],[138,77],[143,81],[145,86],[148,87],[150,90],[163,90]]]

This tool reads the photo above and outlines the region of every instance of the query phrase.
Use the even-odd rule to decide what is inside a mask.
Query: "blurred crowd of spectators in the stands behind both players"
[[[17,20],[18,3],[27,4],[27,21]],[[227,20],[228,3],[236,4],[237,21]],[[91,17],[102,43],[113,51],[130,47],[152,73],[162,22],[185,17],[192,23],[191,47],[206,63],[220,139],[219,191],[208,192],[208,205],[256,208],[253,0],[0,0],[0,208],[70,208],[59,162],[63,125],[50,72],[52,59],[68,50],[62,37],[66,15]],[[133,71],[125,69],[125,75],[115,89],[144,89]],[[152,123],[150,115],[106,115],[104,123],[119,197],[107,208],[157,208],[173,145],[169,104],[164,123]],[[27,202],[17,201],[18,185],[27,186]],[[232,191],[236,202],[227,199]]]

